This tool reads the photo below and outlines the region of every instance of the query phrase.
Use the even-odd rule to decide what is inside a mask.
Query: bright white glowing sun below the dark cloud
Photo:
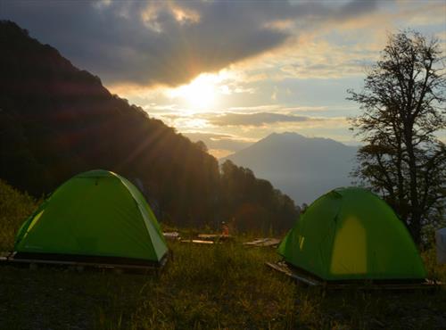
[[[175,88],[170,95],[182,98],[194,111],[207,111],[217,102],[218,83],[218,75],[205,73],[194,78],[188,85]]]

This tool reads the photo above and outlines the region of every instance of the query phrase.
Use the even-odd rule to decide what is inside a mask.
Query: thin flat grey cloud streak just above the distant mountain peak
[[[296,116],[293,114],[282,114],[273,112],[255,112],[255,113],[234,113],[227,112],[216,117],[209,117],[207,120],[212,125],[217,126],[264,126],[278,122],[301,122],[308,120],[317,120],[307,116]]]

